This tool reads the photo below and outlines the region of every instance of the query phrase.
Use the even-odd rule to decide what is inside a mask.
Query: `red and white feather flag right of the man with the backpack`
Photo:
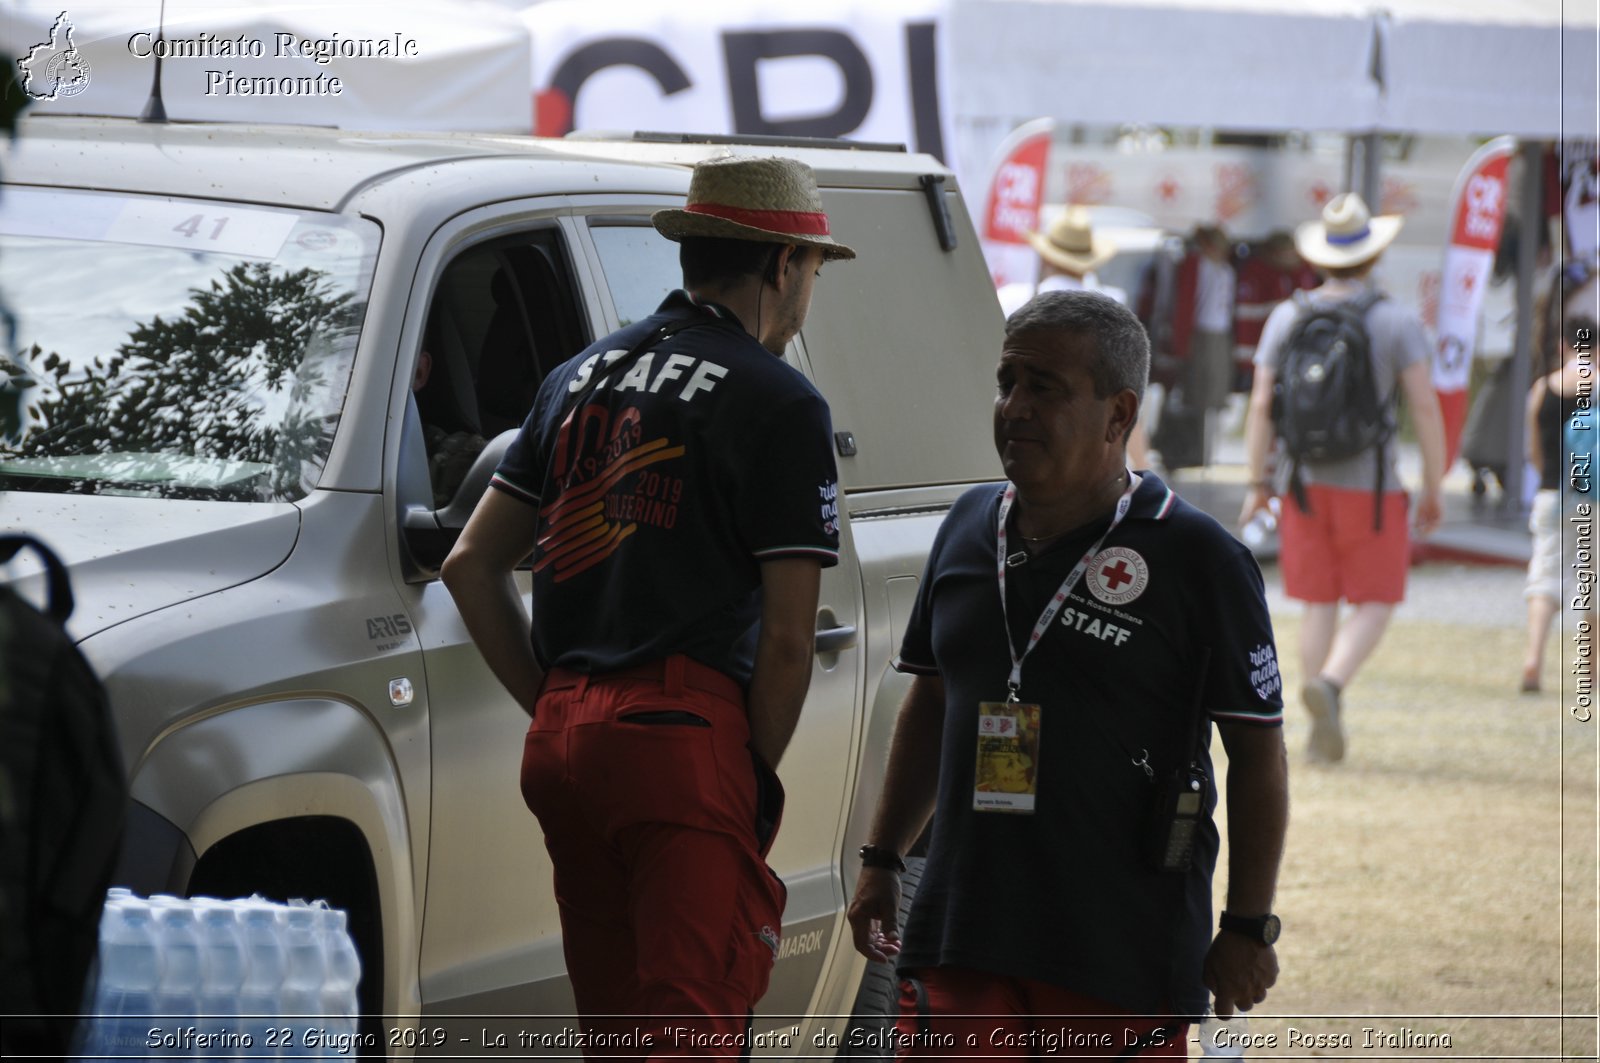
[[[1450,197],[1450,243],[1438,285],[1438,346],[1434,352],[1434,391],[1445,413],[1445,467],[1456,459],[1467,416],[1478,311],[1506,223],[1507,176],[1515,152],[1517,141],[1510,136],[1498,136],[1475,150]]]

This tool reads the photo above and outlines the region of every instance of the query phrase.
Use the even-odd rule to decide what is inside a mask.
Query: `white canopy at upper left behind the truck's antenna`
[[[62,8],[86,83],[35,98],[34,110],[138,117],[150,94],[160,0],[10,0],[0,10],[0,50],[26,59],[43,45],[32,64],[35,94],[48,91],[45,67],[69,45],[64,34],[53,37]],[[493,133],[533,126],[528,30],[494,3],[168,0],[165,38],[187,50],[163,59],[162,94],[173,120]],[[306,54],[317,48],[328,50],[322,59]]]

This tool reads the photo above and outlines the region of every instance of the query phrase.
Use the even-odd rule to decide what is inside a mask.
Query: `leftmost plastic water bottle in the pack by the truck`
[[[162,953],[150,906],[128,897],[106,906],[101,919],[101,980],[94,999],[91,1055],[142,1060],[162,983]]]

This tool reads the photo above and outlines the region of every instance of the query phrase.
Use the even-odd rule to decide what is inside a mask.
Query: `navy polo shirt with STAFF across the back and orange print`
[[[690,327],[571,408],[608,352],[667,323]],[[762,562],[838,562],[827,403],[730,311],[686,291],[552,371],[491,483],[539,509],[533,647],[546,668],[685,653],[747,684]]]

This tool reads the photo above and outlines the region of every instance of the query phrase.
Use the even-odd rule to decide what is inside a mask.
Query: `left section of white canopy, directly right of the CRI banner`
[[[952,109],[1074,125],[1350,130],[1378,117],[1346,0],[954,0]]]

